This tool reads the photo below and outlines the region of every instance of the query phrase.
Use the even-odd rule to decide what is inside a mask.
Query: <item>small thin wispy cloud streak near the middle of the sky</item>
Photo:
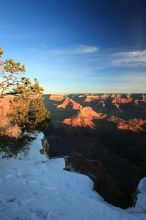
[[[56,56],[76,56],[76,55],[88,55],[96,54],[99,48],[96,46],[77,44],[69,48],[53,49],[52,52]]]

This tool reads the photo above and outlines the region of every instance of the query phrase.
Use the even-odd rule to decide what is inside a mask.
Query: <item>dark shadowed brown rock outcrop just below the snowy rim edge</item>
[[[93,190],[106,201],[116,206],[119,205],[121,192],[99,160],[88,160],[81,154],[73,152],[65,158],[65,169],[89,176],[94,182]]]

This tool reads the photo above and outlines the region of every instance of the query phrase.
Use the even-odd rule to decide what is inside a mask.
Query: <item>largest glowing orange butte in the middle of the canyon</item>
[[[93,119],[104,119],[105,114],[95,112],[91,107],[85,107],[80,110],[77,116],[64,119],[63,123],[73,127],[94,128]]]

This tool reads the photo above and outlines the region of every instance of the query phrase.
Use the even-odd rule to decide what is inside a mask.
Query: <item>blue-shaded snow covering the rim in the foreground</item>
[[[146,220],[146,178],[135,208],[113,207],[87,176],[63,170],[64,159],[40,154],[41,138],[23,159],[0,161],[0,220]]]

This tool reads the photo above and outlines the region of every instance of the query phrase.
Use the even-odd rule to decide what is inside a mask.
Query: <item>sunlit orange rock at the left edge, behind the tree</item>
[[[21,129],[17,124],[12,122],[12,102],[14,96],[5,96],[0,98],[0,135],[9,137],[20,137]]]

